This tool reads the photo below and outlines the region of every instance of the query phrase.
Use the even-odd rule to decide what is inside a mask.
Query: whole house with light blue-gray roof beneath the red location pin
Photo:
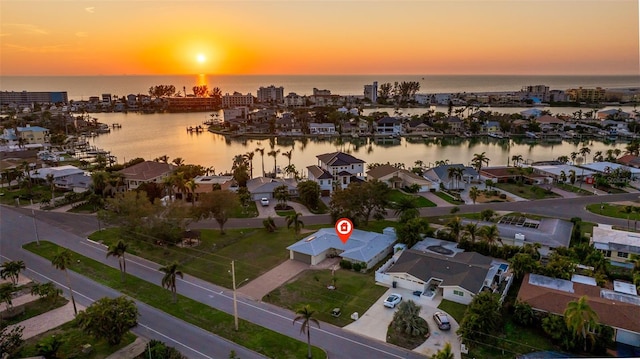
[[[396,234],[393,228],[383,233],[354,229],[346,243],[334,228],[322,228],[287,247],[289,258],[316,265],[327,257],[341,257],[353,263],[366,263],[369,269],[391,253]]]

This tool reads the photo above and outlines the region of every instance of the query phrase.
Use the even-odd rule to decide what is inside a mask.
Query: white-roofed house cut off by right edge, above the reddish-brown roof
[[[611,264],[633,267],[629,263],[629,257],[631,254],[640,255],[640,234],[598,224],[593,227],[591,245],[602,252]]]

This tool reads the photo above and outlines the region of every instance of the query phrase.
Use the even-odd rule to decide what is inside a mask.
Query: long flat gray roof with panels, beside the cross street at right
[[[475,221],[462,220],[462,223]],[[569,247],[573,224],[557,218],[543,218],[538,228],[528,228],[503,223],[477,222],[478,226],[496,225],[501,238],[515,239],[516,234],[524,234],[525,243],[540,243],[549,248]]]

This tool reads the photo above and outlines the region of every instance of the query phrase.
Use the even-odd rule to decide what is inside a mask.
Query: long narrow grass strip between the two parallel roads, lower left
[[[62,247],[51,242],[41,241],[40,246],[36,243],[29,243],[24,248],[47,259],[52,259]],[[307,345],[304,342],[242,319],[240,319],[240,330],[236,332],[232,315],[182,295],[178,295],[178,303],[174,304],[171,292],[159,285],[129,274],[126,275],[125,283],[122,283],[118,269],[78,253],[72,252],[71,263],[69,269],[74,272],[82,273],[96,282],[270,358],[302,358],[306,355]],[[178,285],[179,292],[180,286]],[[313,356],[315,358],[326,357],[322,349],[315,347]]]

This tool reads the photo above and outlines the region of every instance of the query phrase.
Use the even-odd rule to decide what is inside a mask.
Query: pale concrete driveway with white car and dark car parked
[[[449,342],[451,343],[454,358],[461,358],[460,340],[456,334],[459,325],[455,319],[449,316],[449,320],[451,321],[451,330],[448,331],[438,329],[433,321],[433,314],[438,311],[442,312],[442,310],[438,309],[438,305],[440,305],[440,302],[442,301],[442,296],[437,296],[431,300],[426,297],[417,297],[413,295],[412,291],[407,289],[390,288],[375,302],[373,306],[371,306],[371,308],[369,308],[369,310],[366,311],[366,313],[364,313],[364,315],[361,315],[355,322],[345,326],[344,329],[386,342],[387,327],[393,320],[393,314],[396,310],[386,308],[382,303],[391,293],[398,293],[402,295],[403,301],[413,300],[416,304],[422,307],[420,316],[427,321],[431,335],[422,345],[414,349],[415,352],[430,357]]]

